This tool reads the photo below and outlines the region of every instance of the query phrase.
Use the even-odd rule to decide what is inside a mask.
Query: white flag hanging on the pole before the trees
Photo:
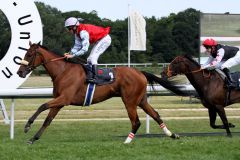
[[[146,50],[146,21],[141,14],[131,10],[130,18],[130,50]]]

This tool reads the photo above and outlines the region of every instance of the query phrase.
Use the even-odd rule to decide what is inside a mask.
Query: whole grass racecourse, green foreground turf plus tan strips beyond
[[[34,77],[35,81],[39,79]],[[41,80],[48,84],[48,81]],[[34,83],[33,83],[34,84]],[[34,86],[34,85],[33,85]],[[48,99],[16,100],[16,119],[27,119],[39,105]],[[9,101],[6,100],[9,111]],[[163,109],[203,109],[194,100],[181,97],[153,97],[151,104],[160,114],[169,116],[207,116],[207,111],[167,111]],[[239,108],[238,104],[231,106]],[[113,114],[112,111],[120,112]],[[143,115],[139,111],[140,115]],[[240,115],[239,111],[229,111],[228,115]],[[44,118],[43,113],[38,119]],[[70,116],[69,116],[70,115]],[[111,100],[93,105],[89,108],[75,106],[65,107],[56,118],[101,118],[127,117],[122,102]],[[239,119],[229,119],[239,132]],[[145,121],[141,121],[138,134],[145,134]],[[162,133],[159,127],[151,122],[151,133]],[[217,120],[218,124],[221,123]],[[168,128],[175,133],[185,132],[225,132],[209,127],[209,120],[166,120]],[[172,140],[168,137],[139,138],[133,143],[124,145],[123,141],[130,131],[127,121],[54,121],[34,145],[26,144],[39,129],[42,122],[35,122],[29,133],[23,133],[24,122],[16,122],[15,139],[9,139],[9,126],[0,123],[0,159],[4,160],[239,160],[240,136],[227,138],[213,137],[182,137]],[[124,136],[124,137],[123,137]]]

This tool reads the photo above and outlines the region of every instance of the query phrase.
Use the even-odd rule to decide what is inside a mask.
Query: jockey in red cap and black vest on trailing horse
[[[218,44],[217,41],[212,38],[204,40],[202,45],[206,48],[206,53],[209,55],[209,58],[206,63],[201,66],[201,69],[221,69],[227,76],[228,87],[234,87],[229,68],[240,64],[239,48]]]

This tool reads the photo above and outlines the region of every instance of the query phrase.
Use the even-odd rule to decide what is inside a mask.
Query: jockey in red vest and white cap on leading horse
[[[85,54],[90,44],[94,44],[87,58],[90,70],[87,72],[87,82],[95,83],[98,58],[111,44],[110,27],[103,28],[91,24],[82,24],[75,17],[68,18],[65,21],[65,27],[71,34],[75,35],[73,48],[69,53],[64,54],[67,59]]]

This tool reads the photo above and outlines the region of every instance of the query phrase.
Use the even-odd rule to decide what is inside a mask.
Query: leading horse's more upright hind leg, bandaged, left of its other
[[[138,114],[137,114],[137,106],[136,105],[126,105],[126,109],[127,109],[127,112],[128,112],[128,117],[131,121],[131,124],[132,124],[132,130],[131,132],[128,134],[128,137],[127,139],[125,140],[125,144],[127,143],[130,143],[135,134],[137,133],[137,130],[138,128],[140,127],[141,123],[140,123],[140,120],[138,118]]]

